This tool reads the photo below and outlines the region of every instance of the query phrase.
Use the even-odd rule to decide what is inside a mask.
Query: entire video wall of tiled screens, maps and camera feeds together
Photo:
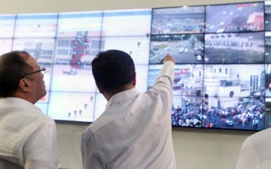
[[[51,14],[1,14],[0,54],[30,52],[55,120],[93,122],[107,100],[91,61],[122,50],[136,89],[151,88],[163,58],[175,61],[173,127],[262,130],[271,126],[271,1]]]

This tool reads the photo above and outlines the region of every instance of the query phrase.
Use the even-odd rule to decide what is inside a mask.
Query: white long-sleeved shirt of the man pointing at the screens
[[[175,169],[171,110],[173,62],[166,61],[154,87],[114,95],[82,134],[84,169]]]

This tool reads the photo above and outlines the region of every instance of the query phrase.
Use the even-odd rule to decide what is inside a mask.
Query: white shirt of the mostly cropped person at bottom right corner
[[[271,168],[271,128],[257,132],[242,144],[233,169]]]

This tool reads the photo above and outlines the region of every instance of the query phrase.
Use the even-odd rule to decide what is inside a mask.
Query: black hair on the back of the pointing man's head
[[[91,64],[97,85],[107,92],[131,82],[135,75],[135,63],[126,52],[100,52]]]

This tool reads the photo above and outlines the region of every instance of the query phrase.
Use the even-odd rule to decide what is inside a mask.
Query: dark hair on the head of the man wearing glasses
[[[32,70],[25,62],[28,52],[7,52],[0,56],[0,98],[13,97],[23,74]]]

